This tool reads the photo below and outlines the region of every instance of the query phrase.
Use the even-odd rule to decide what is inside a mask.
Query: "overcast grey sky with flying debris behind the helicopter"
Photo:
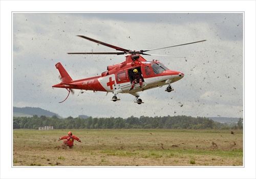
[[[13,106],[39,107],[62,117],[201,116],[243,117],[242,12],[232,13],[20,13],[13,12]],[[128,49],[153,49],[199,40],[205,42],[155,50],[151,54],[180,56],[158,59],[184,78],[134,96],[120,94],[114,103],[105,92],[69,96],[53,89],[61,62],[73,80],[101,74],[124,56],[68,55],[68,52],[115,52],[115,49],[76,37],[84,35]],[[183,105],[183,106],[182,106]],[[181,107],[182,106],[182,107]]]

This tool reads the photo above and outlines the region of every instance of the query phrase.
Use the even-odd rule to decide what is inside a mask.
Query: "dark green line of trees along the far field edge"
[[[237,123],[220,123],[206,117],[164,116],[164,117],[121,117],[109,118],[58,118],[34,115],[13,117],[13,129],[38,129],[53,126],[54,129],[243,129],[243,119]]]

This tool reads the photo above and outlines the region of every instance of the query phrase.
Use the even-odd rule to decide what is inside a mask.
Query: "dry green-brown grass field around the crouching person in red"
[[[13,130],[13,166],[243,166],[242,131],[68,131]]]

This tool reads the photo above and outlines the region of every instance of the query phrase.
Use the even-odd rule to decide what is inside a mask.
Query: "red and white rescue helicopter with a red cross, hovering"
[[[93,76],[91,78],[72,80],[69,73],[58,62],[55,67],[60,73],[61,83],[53,85],[53,88],[65,88],[68,90],[68,96],[60,101],[62,103],[68,97],[70,92],[73,93],[72,89],[91,90],[91,91],[102,91],[113,93],[112,101],[118,101],[119,93],[129,93],[135,96],[134,103],[142,104],[139,92],[149,90],[157,87],[167,85],[165,91],[171,92],[174,90],[172,83],[181,80],[184,77],[184,73],[180,71],[174,71],[168,69],[163,63],[158,60],[147,61],[142,55],[151,56],[146,52],[151,50],[170,48],[175,46],[188,45],[193,43],[199,43],[206,40],[190,42],[180,45],[167,46],[162,48],[147,49],[147,50],[130,50],[114,46],[108,43],[104,43],[83,35],[77,35],[78,37],[96,42],[98,44],[114,48],[120,52],[90,52],[90,53],[68,53],[68,54],[80,54],[80,55],[126,55],[125,61],[119,64],[107,66],[106,71],[102,72],[101,75]],[[174,56],[169,56],[174,57]],[[134,79],[134,74],[140,74],[139,79]],[[138,77],[138,75],[137,75]]]

